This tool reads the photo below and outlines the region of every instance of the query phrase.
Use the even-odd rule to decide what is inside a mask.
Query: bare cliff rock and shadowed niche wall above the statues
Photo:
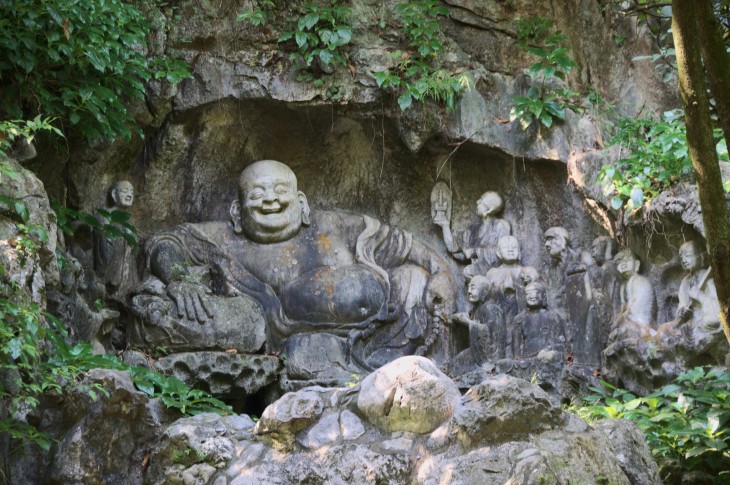
[[[276,42],[293,11],[276,10],[269,26],[257,28],[235,21],[246,2],[203,9],[181,2],[168,12],[176,20],[159,33],[158,48],[186,58],[194,79],[173,91],[152,85],[147,106],[137,110],[146,123],[144,144],[75,154],[72,201],[93,209],[114,180],[128,178],[138,190],[135,221],[145,231],[222,219],[241,167],[269,158],[295,170],[315,206],[365,212],[426,238],[433,238],[427,194],[439,178],[454,189],[456,220],[471,213],[483,191],[498,189],[507,215],[524,221],[516,233],[568,222],[575,233],[595,232],[600,221],[564,216],[585,212],[566,184],[567,167],[600,148],[598,116],[569,112],[550,130],[504,122],[512,98],[529,87],[525,69],[534,62],[515,46],[513,22],[555,19],[579,64],[574,87],[594,89],[629,115],[667,103],[653,67],[630,61],[649,48],[642,33],[580,2],[447,2],[444,67],[469,73],[474,89],[452,112],[426,103],[401,113],[373,78],[392,63],[388,51],[405,47],[404,34],[391,26],[394,4],[352,2],[351,70],[338,68],[317,88],[295,80],[288,52]],[[384,29],[374,19],[385,20]],[[612,40],[618,33],[626,39],[621,49]],[[332,86],[341,93],[337,100],[328,98]],[[486,180],[485,173],[493,176]],[[539,254],[530,249],[524,252]]]

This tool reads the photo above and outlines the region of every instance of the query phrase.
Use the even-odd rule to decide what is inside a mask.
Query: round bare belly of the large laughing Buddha
[[[381,279],[361,264],[310,271],[279,296],[289,318],[322,323],[361,322],[377,313],[386,297]]]

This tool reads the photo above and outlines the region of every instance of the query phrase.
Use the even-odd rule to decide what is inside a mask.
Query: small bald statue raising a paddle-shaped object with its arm
[[[457,243],[451,233],[449,221],[436,220],[434,224],[441,227],[446,249],[454,259],[460,262],[470,262],[464,269],[467,280],[481,274],[484,275],[497,262],[497,241],[502,236],[509,236],[512,229],[504,219],[497,215],[504,208],[502,197],[496,192],[485,192],[477,201],[477,216],[480,221],[472,223],[461,235],[461,242]]]

